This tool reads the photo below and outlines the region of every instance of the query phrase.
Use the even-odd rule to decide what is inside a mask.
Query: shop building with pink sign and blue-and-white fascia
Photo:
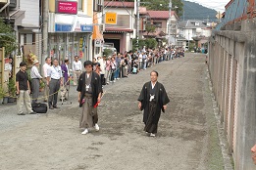
[[[73,62],[92,60],[93,0],[50,0],[48,52],[50,57]]]

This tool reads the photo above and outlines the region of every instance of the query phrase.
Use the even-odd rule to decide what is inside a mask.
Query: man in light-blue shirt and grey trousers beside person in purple
[[[48,105],[50,109],[59,108],[57,106],[58,91],[60,85],[63,84],[62,68],[59,65],[58,59],[53,60],[53,65],[47,70],[47,85],[50,89]]]

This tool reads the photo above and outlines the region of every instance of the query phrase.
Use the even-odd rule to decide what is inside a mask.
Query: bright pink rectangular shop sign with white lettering
[[[77,1],[57,1],[57,13],[77,15]]]

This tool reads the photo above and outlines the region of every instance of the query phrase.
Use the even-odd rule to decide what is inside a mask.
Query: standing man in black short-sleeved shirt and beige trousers
[[[25,113],[23,112],[24,105],[26,106],[26,111],[29,112],[29,114],[35,114],[35,112],[33,112],[32,110],[32,106],[30,103],[30,87],[28,82],[28,76],[26,74],[26,63],[22,62],[20,64],[20,67],[20,71],[16,74],[16,88],[17,95],[19,95],[17,101],[19,109],[18,115],[25,115]]]

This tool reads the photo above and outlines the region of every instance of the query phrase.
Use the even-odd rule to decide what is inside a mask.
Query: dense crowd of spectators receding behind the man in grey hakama
[[[128,51],[125,54],[114,53],[112,56],[98,57],[93,60],[93,70],[100,75],[102,84],[108,85],[120,78],[127,78],[130,74],[137,74],[147,67],[181,57],[184,57],[182,48],[149,49],[143,47],[135,52]]]

